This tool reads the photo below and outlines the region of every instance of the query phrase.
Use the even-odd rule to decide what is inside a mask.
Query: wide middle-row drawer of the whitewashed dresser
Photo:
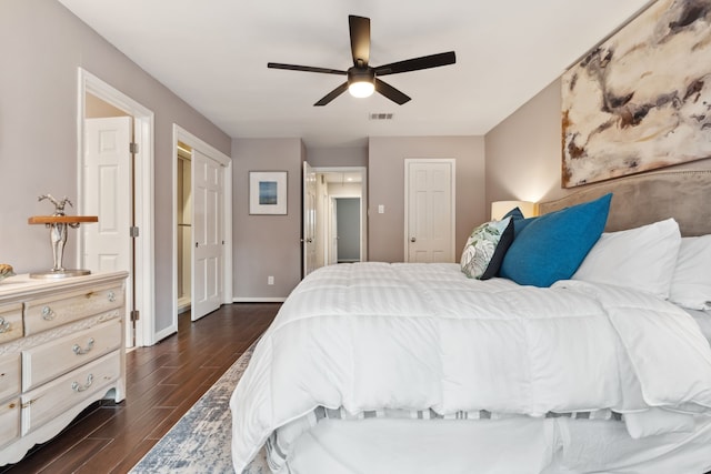
[[[22,351],[22,391],[91,362],[121,346],[121,322],[117,319]]]

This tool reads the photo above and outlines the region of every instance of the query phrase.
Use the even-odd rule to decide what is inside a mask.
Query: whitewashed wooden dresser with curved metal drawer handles
[[[0,282],[0,466],[126,396],[127,272]]]

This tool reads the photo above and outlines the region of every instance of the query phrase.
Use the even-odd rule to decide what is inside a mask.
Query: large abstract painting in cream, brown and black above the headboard
[[[562,186],[711,158],[711,0],[659,0],[562,77]]]

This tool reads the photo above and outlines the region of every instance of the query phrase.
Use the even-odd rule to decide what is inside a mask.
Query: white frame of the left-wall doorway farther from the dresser
[[[218,162],[223,168],[222,175],[222,236],[224,245],[222,245],[222,302],[221,304],[232,303],[232,159],[210,143],[193,135],[182,127],[173,123],[172,139],[172,294],[171,294],[171,317],[172,323],[169,327],[161,331],[163,336],[170,335],[178,331],[178,142],[181,141],[189,145],[193,151],[198,150],[209,159]],[[194,208],[193,211],[194,212]],[[193,252],[191,252],[191,259]],[[194,264],[194,262],[191,262]],[[190,282],[192,286],[192,282]],[[190,299],[192,307],[192,297]]]

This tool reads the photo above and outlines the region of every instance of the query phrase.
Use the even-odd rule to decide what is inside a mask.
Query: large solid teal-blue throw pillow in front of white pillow
[[[550,286],[570,279],[600,239],[612,194],[527,219],[509,248],[500,275],[519,284]],[[522,221],[514,221],[515,223]]]

